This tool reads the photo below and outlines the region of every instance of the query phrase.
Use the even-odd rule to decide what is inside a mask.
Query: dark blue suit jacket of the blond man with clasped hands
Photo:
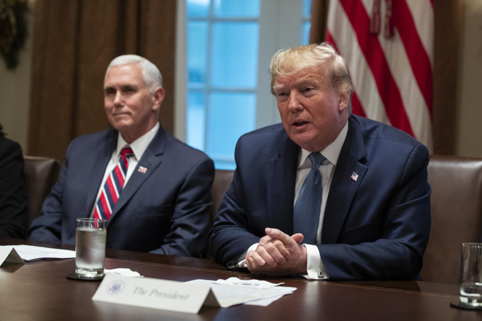
[[[412,279],[430,232],[428,150],[392,126],[354,115],[348,123],[317,245],[323,264],[332,280]],[[216,260],[237,259],[266,227],[293,234],[299,148],[281,124],[239,138],[209,237]]]

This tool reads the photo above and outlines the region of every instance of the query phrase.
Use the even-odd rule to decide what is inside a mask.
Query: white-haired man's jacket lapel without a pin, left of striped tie
[[[106,134],[103,148],[97,153],[94,162],[92,163],[89,183],[87,184],[88,191],[85,204],[86,215],[90,215],[92,212],[100,184],[102,183],[102,178],[104,177],[105,169],[107,168],[107,164],[109,163],[110,156],[112,156],[112,151],[115,149],[116,144],[117,130],[109,130]]]

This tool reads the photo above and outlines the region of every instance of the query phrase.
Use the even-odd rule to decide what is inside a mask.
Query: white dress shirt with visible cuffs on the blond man
[[[320,207],[320,219],[318,222],[318,229],[316,233],[316,244],[320,244],[321,240],[321,228],[323,226],[323,217],[325,214],[325,207],[326,201],[328,199],[328,193],[330,191],[331,180],[333,179],[333,173],[335,172],[336,163],[338,162],[338,156],[340,155],[341,147],[346,138],[346,134],[348,132],[348,122],[346,122],[345,126],[338,134],[338,137],[326,146],[325,149],[321,150],[320,153],[325,157],[325,161],[321,164],[318,168],[321,174],[321,180],[323,184],[323,193],[321,197],[321,207]],[[308,173],[311,170],[311,162],[308,158],[308,155],[311,152],[305,149],[301,149],[298,155],[298,167],[296,169],[296,181],[295,181],[295,197],[294,197],[294,204],[296,204],[296,200],[298,199],[298,194],[300,193],[301,186],[305,181]],[[244,256],[242,256],[236,266],[238,267],[247,267],[246,263],[246,256],[248,255],[249,251],[256,250],[258,243],[253,244],[250,248],[246,251]],[[308,274],[303,275],[307,279],[327,279],[329,278],[329,273],[323,265],[321,261],[320,252],[316,245],[312,244],[303,244],[306,248],[307,252],[307,266],[306,270]]]

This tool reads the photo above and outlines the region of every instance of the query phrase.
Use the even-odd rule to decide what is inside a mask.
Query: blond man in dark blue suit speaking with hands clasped
[[[346,63],[327,44],[279,51],[270,73],[282,124],[239,138],[212,256],[254,274],[415,278],[430,232],[427,148],[351,115]]]

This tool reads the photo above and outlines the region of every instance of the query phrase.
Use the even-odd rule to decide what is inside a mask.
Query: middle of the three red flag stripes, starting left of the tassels
[[[378,91],[390,122],[413,136],[410,122],[402,105],[400,92],[390,73],[378,38],[371,37],[366,32],[370,29],[370,19],[364,6],[359,1],[339,0],[339,3],[353,26],[358,44],[375,76]]]

